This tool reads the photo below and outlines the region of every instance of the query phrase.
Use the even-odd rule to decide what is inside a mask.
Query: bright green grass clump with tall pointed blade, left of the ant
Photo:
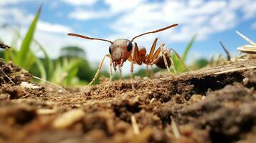
[[[34,39],[34,34],[37,29],[37,23],[39,21],[41,11],[42,6],[39,7],[37,14],[34,16],[34,19],[30,24],[24,38],[19,33],[19,30],[9,26],[15,31],[16,35],[12,41],[11,50],[4,51],[4,59],[6,61],[13,61],[15,64],[23,69],[26,69],[27,71],[30,71],[33,66],[36,66],[37,68],[32,70],[39,71],[40,78],[55,84],[68,86],[74,84],[75,82],[80,82],[80,80],[77,78],[78,64],[80,64],[79,59],[60,59],[59,61],[54,62],[49,58],[49,55],[47,54],[47,51],[45,51],[44,47]],[[20,49],[17,49],[16,46],[19,39],[22,39],[22,45]],[[34,54],[32,49],[36,46],[39,48],[39,51],[43,52],[43,60],[45,61],[45,64],[43,63],[42,59],[39,59],[39,57]],[[54,68],[54,66],[56,68]]]

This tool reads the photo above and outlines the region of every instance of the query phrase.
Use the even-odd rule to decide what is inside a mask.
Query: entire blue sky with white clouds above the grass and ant
[[[113,41],[131,39],[174,23],[179,27],[142,36],[136,42],[149,50],[158,37],[181,54],[191,37],[197,34],[188,59],[194,61],[224,54],[219,39],[232,54],[239,54],[237,47],[247,42],[235,31],[256,41],[255,0],[1,0],[0,25],[19,25],[24,34],[40,4],[44,6],[35,38],[52,57],[57,57],[60,48],[67,45],[81,46],[93,63],[108,54],[108,43],[68,37],[68,32]],[[0,30],[0,39],[6,43],[10,43],[12,37],[11,29]]]

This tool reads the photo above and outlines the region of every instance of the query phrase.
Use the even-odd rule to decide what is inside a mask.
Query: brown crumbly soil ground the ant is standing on
[[[0,60],[14,82],[1,72],[0,142],[256,142],[253,66],[255,59],[137,79],[136,90],[116,81],[67,93]]]

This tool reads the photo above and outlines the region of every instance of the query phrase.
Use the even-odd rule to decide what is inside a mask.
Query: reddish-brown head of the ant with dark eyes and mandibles
[[[109,53],[111,55],[113,66],[116,71],[116,66],[123,66],[129,56],[131,55],[133,44],[128,39],[117,39],[109,46]]]

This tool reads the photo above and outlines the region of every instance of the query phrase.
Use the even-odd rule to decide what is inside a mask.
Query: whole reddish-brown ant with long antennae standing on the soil
[[[116,39],[115,41],[110,41],[107,39],[99,39],[99,38],[92,38],[89,36],[82,36],[80,34],[69,33],[67,35],[68,36],[77,36],[82,39],[107,41],[110,43],[109,54],[106,54],[103,57],[103,59],[100,61],[100,64],[98,66],[98,71],[96,72],[95,77],[93,78],[92,82],[90,82],[90,84],[88,84],[88,86],[93,84],[93,82],[95,82],[95,79],[100,74],[100,69],[103,66],[103,61],[105,60],[105,57],[107,56],[108,58],[110,58],[110,80],[113,76],[112,64],[113,64],[114,70],[116,71],[116,66],[118,66],[118,68],[120,69],[120,67],[123,66],[123,63],[127,59],[128,59],[128,61],[131,61],[131,85],[132,85],[132,88],[134,89],[134,87],[133,87],[133,64],[139,64],[139,65],[142,63],[147,64],[147,65],[156,64],[156,66],[160,67],[161,69],[168,69],[168,71],[170,71],[169,66],[171,66],[171,64],[173,63],[170,58],[171,55],[169,54],[169,51],[171,51],[171,50],[166,49],[163,51],[162,44],[160,44],[160,47],[156,50],[155,53],[153,53],[153,51],[155,50],[156,41],[158,38],[156,38],[155,41],[153,42],[153,45],[151,47],[151,51],[149,54],[146,54],[145,48],[138,49],[138,45],[136,42],[134,42],[134,45],[133,45],[134,39],[138,38],[139,36],[146,35],[146,34],[153,34],[153,33],[159,32],[159,31],[164,31],[166,29],[171,29],[175,26],[178,26],[178,24],[172,24],[172,25],[166,26],[162,29],[157,29],[154,31],[148,31],[143,34],[139,34],[138,36],[134,36],[133,39],[131,39],[131,40]],[[159,56],[160,52],[161,52],[161,56]],[[166,56],[169,59],[166,59]],[[121,73],[121,70],[120,70],[120,73]]]

